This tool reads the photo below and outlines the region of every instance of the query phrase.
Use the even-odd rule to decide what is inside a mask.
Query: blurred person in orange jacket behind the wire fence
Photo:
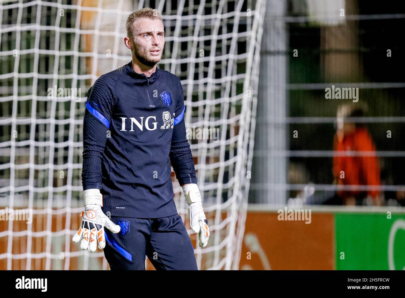
[[[375,144],[367,129],[347,117],[362,117],[365,107],[360,104],[345,104],[337,111],[337,132],[333,140],[333,176],[338,184],[337,195],[345,205],[361,205],[364,198],[375,206],[382,205],[378,186],[380,184],[379,158]],[[352,151],[352,154],[349,152]],[[343,153],[345,152],[345,153]],[[343,154],[342,154],[343,153]],[[375,186],[372,190],[342,190],[339,186]]]

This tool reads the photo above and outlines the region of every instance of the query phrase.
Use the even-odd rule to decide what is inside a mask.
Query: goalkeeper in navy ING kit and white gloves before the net
[[[150,8],[134,11],[126,30],[132,61],[101,75],[87,96],[85,211],[73,241],[82,239],[81,249],[91,252],[98,244],[111,270],[145,270],[145,255],[157,270],[197,270],[173,200],[170,162],[200,247],[209,228],[185,133],[183,88],[156,65],[164,48],[162,17]]]

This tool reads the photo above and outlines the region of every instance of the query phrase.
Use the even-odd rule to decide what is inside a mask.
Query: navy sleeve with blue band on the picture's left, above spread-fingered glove
[[[102,154],[114,105],[111,83],[101,76],[88,92],[83,120],[83,190],[101,189],[102,186]]]

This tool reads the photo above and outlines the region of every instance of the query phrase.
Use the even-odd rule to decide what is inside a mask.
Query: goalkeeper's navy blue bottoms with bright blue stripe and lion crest
[[[198,270],[193,245],[179,214],[158,219],[111,217],[121,231],[105,228],[104,255],[111,270]]]

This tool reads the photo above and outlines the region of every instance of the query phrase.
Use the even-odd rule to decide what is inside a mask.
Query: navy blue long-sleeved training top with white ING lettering
[[[177,214],[180,185],[197,183],[185,132],[180,79],[156,67],[148,78],[128,64],[89,89],[83,120],[83,190],[100,189],[103,212],[160,218]]]

